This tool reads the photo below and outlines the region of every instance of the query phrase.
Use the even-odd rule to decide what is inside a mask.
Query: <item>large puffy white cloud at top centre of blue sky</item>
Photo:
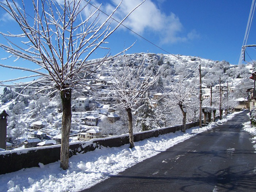
[[[96,1],[93,2],[96,3]],[[110,14],[119,2],[120,0],[111,0],[108,4],[103,4],[101,10]],[[114,18],[119,21],[122,20],[140,2],[142,0],[123,0]],[[164,0],[158,0],[158,3],[163,2]],[[172,12],[167,15],[158,9],[152,0],[146,0],[138,7],[125,20],[124,25],[140,35],[143,35],[145,32],[157,35],[161,44],[184,42],[199,37],[195,30],[192,30],[187,35],[181,35],[184,34],[184,27],[177,15]]]

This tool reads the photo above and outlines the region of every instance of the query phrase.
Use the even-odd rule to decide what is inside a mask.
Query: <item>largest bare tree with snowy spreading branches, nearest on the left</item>
[[[1,81],[0,85],[23,90],[35,88],[37,93],[51,90],[49,94],[60,94],[63,106],[60,159],[61,168],[67,169],[72,92],[90,86],[90,79],[86,78],[88,74],[98,69],[102,62],[116,56],[107,53],[102,59],[87,61],[96,49],[106,48],[102,47],[106,39],[134,9],[111,30],[111,17],[122,2],[103,21],[99,18],[100,6],[91,10],[89,15],[84,15],[89,6],[86,0],[22,0],[19,3],[21,6],[15,0],[0,2],[0,7],[21,29],[19,34],[17,31],[8,34],[1,32],[7,44],[0,43],[0,47],[15,57],[15,61],[22,58],[31,64],[26,67],[0,66],[31,72],[33,75]],[[26,83],[5,84],[27,78],[36,79]]]

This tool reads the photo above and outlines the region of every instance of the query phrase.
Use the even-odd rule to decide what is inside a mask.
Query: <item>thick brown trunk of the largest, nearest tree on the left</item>
[[[71,90],[61,91],[61,102],[63,107],[61,125],[61,168],[68,169],[69,163],[69,137],[71,126]]]

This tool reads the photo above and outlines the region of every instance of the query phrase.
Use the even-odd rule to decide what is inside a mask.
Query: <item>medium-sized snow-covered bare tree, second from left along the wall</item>
[[[124,61],[122,69],[113,73],[115,83],[111,98],[118,102],[120,108],[127,111],[130,148],[134,147],[132,111],[136,110],[141,100],[147,99],[149,88],[160,75],[160,72],[156,75],[149,73],[144,62],[131,64],[129,61]]]

